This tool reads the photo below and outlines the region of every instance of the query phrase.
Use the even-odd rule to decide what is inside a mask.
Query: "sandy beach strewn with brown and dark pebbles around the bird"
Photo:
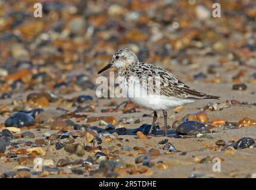
[[[0,0],[0,177],[256,178],[255,19],[248,0]],[[220,99],[149,136],[152,111],[96,94],[120,47]]]

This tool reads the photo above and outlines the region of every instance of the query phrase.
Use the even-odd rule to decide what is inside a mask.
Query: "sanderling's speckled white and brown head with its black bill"
[[[104,66],[104,68],[102,68],[98,72],[98,74],[100,74],[103,71],[106,71],[111,67],[120,69],[126,66],[130,66],[132,64],[136,64],[137,61],[138,58],[132,50],[127,48],[118,49],[113,53],[110,63]]]

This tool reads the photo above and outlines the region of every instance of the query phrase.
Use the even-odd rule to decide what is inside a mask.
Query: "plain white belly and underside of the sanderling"
[[[132,86],[125,83],[120,83],[122,93],[125,97],[128,97],[138,106],[143,107],[144,109],[148,110],[168,110],[176,106],[185,105],[188,103],[195,102],[194,100],[189,99],[176,99],[167,96],[160,96],[156,94],[149,94],[145,88],[141,86]]]

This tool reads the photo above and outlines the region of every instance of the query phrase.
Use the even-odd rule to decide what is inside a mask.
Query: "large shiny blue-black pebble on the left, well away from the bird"
[[[18,112],[11,115],[5,120],[5,126],[14,126],[21,128],[23,126],[34,125],[34,118],[26,113]]]

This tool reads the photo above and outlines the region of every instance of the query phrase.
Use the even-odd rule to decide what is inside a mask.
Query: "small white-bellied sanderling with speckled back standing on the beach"
[[[118,70],[117,80],[123,93],[136,105],[154,111],[149,134],[152,133],[152,126],[157,121],[158,110],[162,110],[164,114],[164,136],[166,136],[166,110],[200,99],[219,98],[188,87],[171,72],[160,66],[139,61],[130,49],[123,48],[115,51],[110,64],[102,68],[98,74],[111,67]],[[148,81],[147,85],[144,85],[145,81]]]

